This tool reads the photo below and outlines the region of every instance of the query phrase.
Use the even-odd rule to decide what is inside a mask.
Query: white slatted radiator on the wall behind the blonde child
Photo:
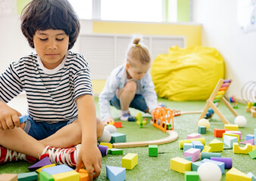
[[[158,54],[167,54],[173,45],[186,48],[185,36],[143,35],[142,39],[152,61]],[[92,79],[107,79],[115,67],[123,64],[131,41],[131,35],[80,35],[80,54],[89,62]]]

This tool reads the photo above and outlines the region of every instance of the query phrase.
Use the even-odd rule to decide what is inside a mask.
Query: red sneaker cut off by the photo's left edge
[[[0,164],[6,164],[10,161],[19,161],[24,160],[29,163],[35,163],[36,158],[30,157],[20,152],[12,151],[11,149],[6,149],[3,146],[0,146]]]

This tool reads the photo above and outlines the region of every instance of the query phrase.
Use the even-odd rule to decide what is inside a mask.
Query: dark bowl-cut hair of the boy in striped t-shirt
[[[36,30],[61,29],[69,35],[68,50],[73,48],[80,32],[80,22],[67,0],[33,0],[21,12],[21,31],[35,48]]]

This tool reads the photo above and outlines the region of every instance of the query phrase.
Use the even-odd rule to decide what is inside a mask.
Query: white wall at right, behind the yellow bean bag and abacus
[[[256,32],[242,34],[237,23],[237,0],[193,0],[193,22],[201,23],[202,45],[216,48],[226,64],[226,78],[232,78],[226,95],[242,99],[240,91],[256,81]]]

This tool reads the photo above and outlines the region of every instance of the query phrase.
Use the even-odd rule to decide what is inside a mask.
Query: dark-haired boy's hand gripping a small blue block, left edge
[[[20,112],[9,107],[6,103],[0,101],[0,129],[10,130],[14,127],[20,127]],[[24,124],[24,123],[23,123]]]

